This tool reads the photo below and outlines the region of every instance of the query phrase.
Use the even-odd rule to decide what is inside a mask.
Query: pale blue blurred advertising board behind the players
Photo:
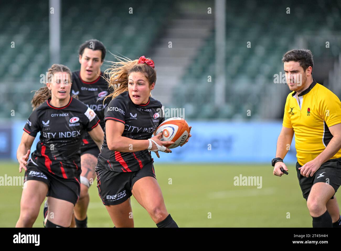
[[[11,158],[16,159],[25,121],[12,124]],[[160,152],[157,162],[235,162],[270,163],[275,157],[277,137],[281,122],[189,122],[192,126],[189,142],[172,149],[172,153]],[[1,136],[1,133],[0,133]],[[31,152],[35,150],[40,134],[35,138]],[[286,163],[296,162],[295,141],[285,157]],[[9,155],[7,155],[9,156]]]

